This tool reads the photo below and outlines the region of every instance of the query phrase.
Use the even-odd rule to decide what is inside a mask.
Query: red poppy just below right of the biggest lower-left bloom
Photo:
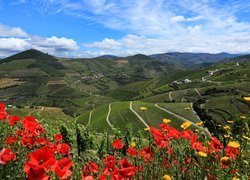
[[[57,174],[59,179],[67,179],[72,175],[70,168],[72,167],[72,161],[68,158],[61,159],[57,161],[54,172]]]

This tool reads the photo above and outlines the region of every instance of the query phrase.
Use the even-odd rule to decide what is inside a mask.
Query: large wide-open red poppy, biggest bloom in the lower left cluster
[[[48,146],[30,153],[29,157],[30,161],[28,164],[31,166],[49,169],[56,163],[54,152]]]

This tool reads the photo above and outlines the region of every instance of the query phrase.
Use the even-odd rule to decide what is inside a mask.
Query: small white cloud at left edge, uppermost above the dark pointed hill
[[[0,24],[0,37],[27,37],[28,34],[20,27],[9,27]]]

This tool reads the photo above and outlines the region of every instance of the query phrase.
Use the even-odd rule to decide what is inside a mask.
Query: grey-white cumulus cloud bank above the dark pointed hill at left
[[[31,48],[62,56],[79,48],[77,42],[73,39],[56,36],[39,37],[28,35],[21,28],[11,28],[4,25],[1,27],[0,57],[6,57]]]

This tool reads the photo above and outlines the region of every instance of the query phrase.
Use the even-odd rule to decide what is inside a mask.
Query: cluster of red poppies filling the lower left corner
[[[9,120],[10,126],[15,126],[19,121],[19,116],[8,116],[5,112],[5,105],[0,104],[0,120]],[[24,164],[24,172],[29,180],[50,179],[49,172],[54,172],[59,179],[67,179],[71,176],[72,161],[68,158],[70,146],[62,141],[61,134],[55,134],[55,142],[50,142],[43,135],[45,128],[36,121],[33,116],[25,116],[22,119],[21,128],[16,127],[15,136],[5,139],[5,144],[11,146],[20,141],[23,147],[39,147],[28,154],[29,160]],[[59,158],[57,160],[57,158]],[[10,148],[3,148],[0,151],[0,164],[7,164],[16,159],[16,153]]]

